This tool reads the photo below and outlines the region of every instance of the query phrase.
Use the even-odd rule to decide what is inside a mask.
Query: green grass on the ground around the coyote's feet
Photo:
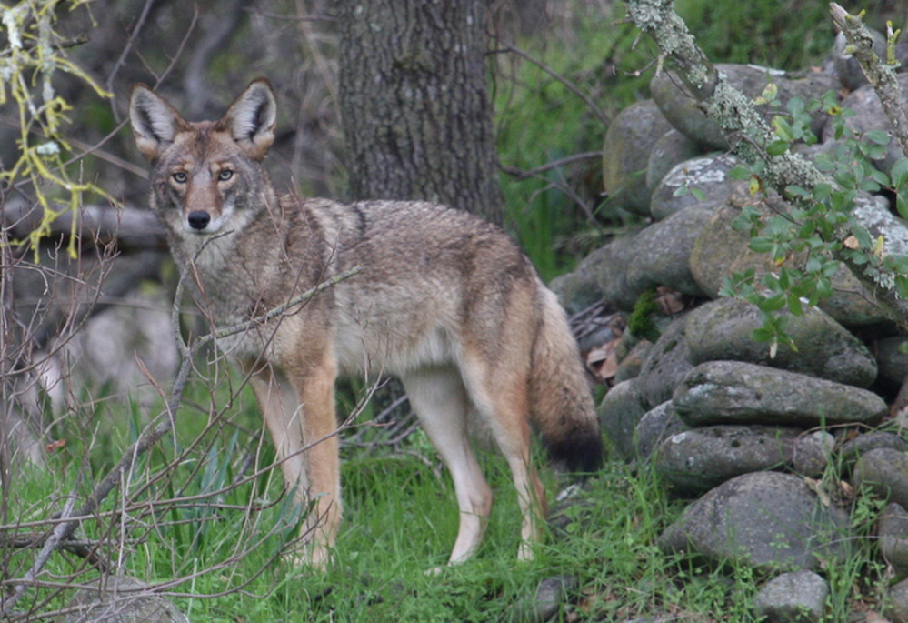
[[[536,559],[517,563],[514,489],[504,461],[483,453],[495,494],[484,544],[464,565],[426,575],[444,564],[457,512],[451,481],[422,432],[396,452],[344,449],[345,516],[336,561],[324,574],[294,568],[278,555],[294,538],[298,509],[283,496],[277,470],[267,468],[274,451],[267,436],[259,437],[252,398],[235,379],[228,385],[222,383],[214,397],[204,386],[194,387],[177,414],[175,435],[138,462],[128,478],[134,504],[125,524],[100,517],[83,528],[86,538],[105,543],[108,558],[122,555],[137,578],[151,583],[185,578],[169,590],[194,623],[520,620],[517,615],[533,602],[539,583],[558,575],[577,580],[560,620],[567,620],[568,612],[581,621],[665,613],[682,620],[753,620],[753,596],[767,578],[743,565],[702,568],[660,552],[655,539],[684,503],[667,497],[648,470],[632,473],[617,463],[587,483],[577,504],[561,510],[564,521],[537,548]],[[51,468],[27,472],[5,488],[7,525],[49,517],[72,491],[81,503],[135,439],[139,409],[102,405],[71,414],[70,423],[61,420],[58,437],[69,443],[52,456]],[[223,406],[229,408],[219,410]],[[86,430],[97,432],[84,435]],[[368,434],[378,439],[382,431]],[[82,483],[80,466],[90,473]],[[256,474],[256,466],[263,471]],[[243,475],[249,478],[228,487]],[[552,500],[558,483],[552,474],[545,481]],[[123,497],[122,490],[115,492],[102,510],[117,509]],[[167,503],[173,499],[184,501]],[[149,513],[144,503],[158,506]],[[869,533],[880,506],[861,499],[858,504],[856,521]],[[6,578],[22,577],[35,556],[32,550],[2,553]],[[833,586],[828,620],[845,620],[859,600],[878,600],[882,585],[873,578],[880,578],[883,568],[873,558],[872,546],[862,545],[849,561],[828,569]],[[60,581],[80,566],[81,559],[56,553],[46,568],[53,575],[41,578]],[[95,577],[88,570],[77,579]],[[65,595],[54,594],[31,589],[29,603],[45,612],[59,608]],[[50,601],[41,603],[44,598]]]

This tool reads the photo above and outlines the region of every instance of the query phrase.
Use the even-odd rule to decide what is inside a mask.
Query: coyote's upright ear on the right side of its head
[[[261,160],[274,143],[276,120],[274,90],[265,78],[259,78],[236,98],[218,126],[230,132],[246,156]]]

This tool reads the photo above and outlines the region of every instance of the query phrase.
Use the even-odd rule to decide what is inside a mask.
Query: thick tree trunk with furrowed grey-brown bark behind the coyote
[[[340,106],[354,199],[424,199],[502,221],[484,0],[345,0]]]

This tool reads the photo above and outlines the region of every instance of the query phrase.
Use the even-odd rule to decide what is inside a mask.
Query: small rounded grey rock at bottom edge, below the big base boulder
[[[813,571],[783,573],[771,579],[753,600],[753,614],[763,623],[816,623],[823,620],[829,585]]]

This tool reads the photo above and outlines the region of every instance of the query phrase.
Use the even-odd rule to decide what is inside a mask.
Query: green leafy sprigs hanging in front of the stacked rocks
[[[771,89],[767,88],[767,92]],[[780,106],[778,102],[774,104]],[[749,232],[753,251],[772,256],[777,270],[761,276],[753,269],[734,273],[726,279],[721,294],[742,296],[760,308],[763,327],[754,331],[753,337],[769,342],[771,353],[780,343],[793,347],[785,333],[788,318],[781,312],[787,310],[801,316],[805,304],[815,306],[832,296],[832,280],[841,259],[861,266],[881,286],[894,286],[899,296],[908,296],[908,257],[887,255],[883,237],[874,240],[852,215],[860,192],[888,189],[896,199],[898,211],[908,216],[908,158],[896,161],[892,177],[872,164],[874,158],[886,153],[890,137],[885,132],[851,130],[845,119],[854,116],[854,112],[839,106],[833,93],[808,102],[795,98],[773,117],[773,141],[766,146],[767,157],[780,156],[797,142],[815,143],[809,113],[819,110],[830,116],[835,136],[841,139],[833,153],[816,157],[817,168],[829,181],[812,188],[787,186],[785,198],[792,204],[788,212],[766,214],[748,206],[733,223],[736,229]],[[758,158],[736,167],[730,176],[751,180],[755,190],[765,192],[767,189],[758,180],[766,166],[766,160]]]

